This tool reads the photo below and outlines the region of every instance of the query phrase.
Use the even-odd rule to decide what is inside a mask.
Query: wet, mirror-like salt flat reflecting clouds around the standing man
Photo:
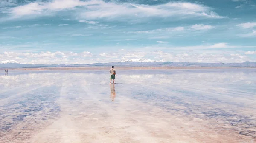
[[[9,71],[0,143],[253,143],[256,70]]]

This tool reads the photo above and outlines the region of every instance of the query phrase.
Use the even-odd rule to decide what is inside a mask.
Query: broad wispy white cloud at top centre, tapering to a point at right
[[[80,16],[86,19],[115,17],[142,18],[142,17],[208,17],[222,18],[210,11],[210,8],[195,3],[169,2],[160,5],[139,5],[139,4],[117,4],[103,1],[90,1],[92,6],[86,6],[88,11],[84,11]],[[94,5],[93,5],[94,4]],[[205,11],[205,12],[202,12]]]

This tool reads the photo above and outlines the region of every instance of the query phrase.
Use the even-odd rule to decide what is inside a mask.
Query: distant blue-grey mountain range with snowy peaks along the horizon
[[[0,68],[35,68],[35,67],[256,67],[256,62],[243,63],[199,63],[199,62],[152,62],[122,61],[95,64],[21,64],[15,60],[1,61]]]

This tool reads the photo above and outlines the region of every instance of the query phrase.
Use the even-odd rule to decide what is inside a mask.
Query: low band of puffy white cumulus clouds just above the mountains
[[[228,45],[227,45],[228,46]],[[0,54],[0,61],[16,60],[21,63],[29,64],[88,64],[96,62],[120,62],[120,61],[170,61],[170,62],[245,62],[255,61],[247,54],[256,54],[256,51],[248,51],[246,53],[223,53],[223,52],[166,52],[157,51],[127,51],[119,50],[116,52],[105,52],[99,55],[93,55],[89,51],[81,53],[76,52],[4,52]],[[135,60],[136,59],[136,60]]]

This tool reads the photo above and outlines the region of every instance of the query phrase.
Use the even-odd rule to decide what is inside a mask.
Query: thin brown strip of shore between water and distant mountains
[[[108,70],[110,67],[32,67],[8,68],[9,70]],[[256,67],[116,67],[119,70],[175,70],[175,69],[255,69]],[[5,68],[0,68],[4,70]]]

